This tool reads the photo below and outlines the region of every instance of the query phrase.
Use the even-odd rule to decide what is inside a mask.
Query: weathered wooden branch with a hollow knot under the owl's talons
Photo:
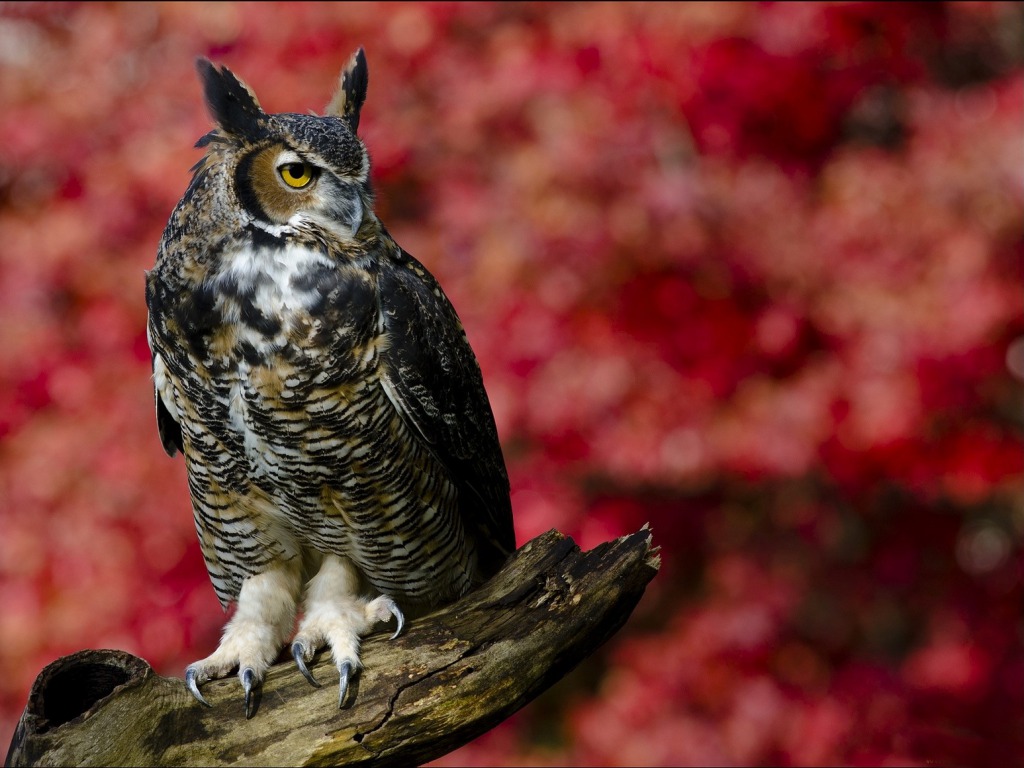
[[[415,765],[497,725],[561,679],[629,617],[660,557],[650,531],[581,552],[552,530],[452,605],[395,640],[367,638],[346,708],[330,653],[310,670],[267,673],[258,710],[243,712],[238,678],[207,683],[196,701],[123,651],[85,650],[36,679],[6,764]]]

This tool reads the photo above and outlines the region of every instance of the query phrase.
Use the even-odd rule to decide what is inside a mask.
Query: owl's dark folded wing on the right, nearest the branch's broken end
[[[483,378],[434,278],[404,251],[379,275],[384,389],[453,473],[467,532],[490,575],[515,549],[509,479]]]

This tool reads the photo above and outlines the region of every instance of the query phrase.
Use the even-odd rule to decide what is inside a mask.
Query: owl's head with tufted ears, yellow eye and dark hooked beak
[[[207,147],[197,178],[222,175],[226,193],[267,231],[307,224],[353,238],[371,200],[370,159],[356,135],[368,84],[362,49],[342,70],[324,116],[268,115],[226,67],[205,58],[196,67],[217,123],[197,143]]]

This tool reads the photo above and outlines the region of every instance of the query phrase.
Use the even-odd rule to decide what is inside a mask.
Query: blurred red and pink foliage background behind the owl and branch
[[[214,647],[144,332],[194,59],[305,112],[364,45],[519,543],[664,558],[439,764],[1024,765],[1022,7],[2,4],[0,745],[58,655]]]

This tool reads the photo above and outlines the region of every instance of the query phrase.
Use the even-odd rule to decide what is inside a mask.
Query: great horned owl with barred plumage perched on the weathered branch
[[[267,114],[197,69],[216,127],[146,272],[157,426],[184,457],[221,605],[200,686],[252,692],[291,640],[329,647],[339,706],[378,623],[450,602],[515,548],[480,368],[435,279],[374,213],[362,49],[324,116]]]

